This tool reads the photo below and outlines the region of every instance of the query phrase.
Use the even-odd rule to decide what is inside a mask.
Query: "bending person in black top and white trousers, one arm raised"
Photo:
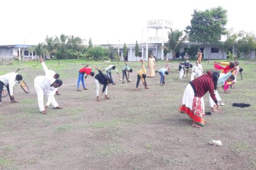
[[[101,101],[99,100],[99,84],[103,85],[101,95],[103,95],[105,92],[105,99],[110,99],[109,97],[107,97],[107,86],[108,84],[112,84],[113,80],[112,78],[108,77],[108,75],[105,75],[104,73],[102,73],[102,71],[99,70],[96,66],[94,67],[99,71],[99,73],[94,77],[95,84],[96,84],[96,100]]]

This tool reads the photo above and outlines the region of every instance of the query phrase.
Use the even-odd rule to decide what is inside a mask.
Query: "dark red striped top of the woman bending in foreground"
[[[201,77],[197,77],[196,79],[191,81],[190,84],[192,85],[192,87],[194,86],[196,97],[203,97],[209,90],[210,96],[212,97],[213,101],[216,104],[218,103],[214,92],[214,83],[211,72],[207,72],[206,74],[201,75]]]

